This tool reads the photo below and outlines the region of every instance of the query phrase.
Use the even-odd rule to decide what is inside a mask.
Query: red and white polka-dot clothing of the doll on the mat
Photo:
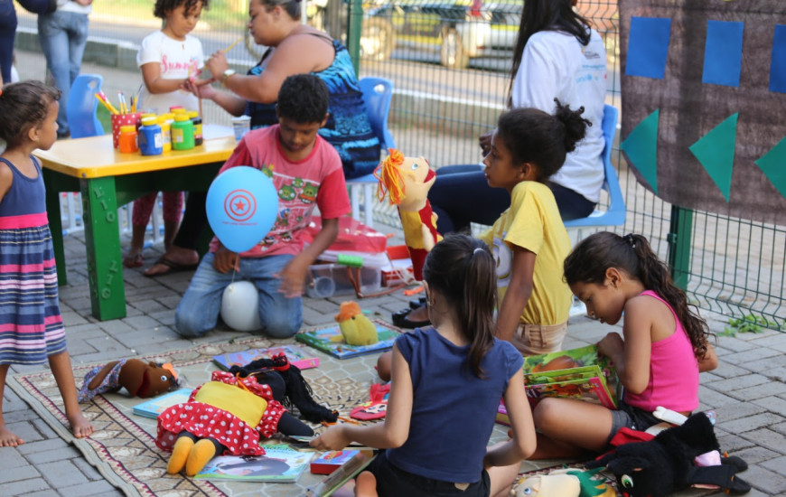
[[[212,381],[237,385],[238,379],[226,371],[213,371]],[[194,389],[188,402],[166,409],[158,417],[158,433],[155,445],[171,452],[177,436],[183,430],[200,438],[215,438],[227,450],[224,455],[263,455],[259,437],[269,438],[276,433],[278,420],[285,408],[273,399],[270,387],[259,385],[253,376],[240,379],[252,393],[267,399],[267,409],[257,427],[249,427],[245,421],[229,411],[194,400],[201,387]]]

